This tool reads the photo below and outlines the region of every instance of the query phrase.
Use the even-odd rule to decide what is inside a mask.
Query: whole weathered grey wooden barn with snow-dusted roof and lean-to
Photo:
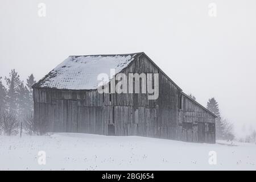
[[[159,97],[99,93],[97,76],[113,68],[116,74],[159,73]],[[34,119],[49,132],[215,143],[216,115],[183,93],[143,52],[69,56],[33,89]]]

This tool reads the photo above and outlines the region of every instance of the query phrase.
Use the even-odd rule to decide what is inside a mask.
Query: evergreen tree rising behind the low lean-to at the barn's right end
[[[217,115],[216,118],[216,138],[224,138],[224,126],[221,120],[220,110],[218,109],[218,102],[213,98],[210,98],[207,102],[207,109],[213,114]]]

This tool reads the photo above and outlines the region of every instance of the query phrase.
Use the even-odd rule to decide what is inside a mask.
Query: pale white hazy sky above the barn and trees
[[[46,4],[46,17],[38,4]],[[216,3],[217,17],[208,15]],[[237,133],[256,128],[255,0],[0,1],[0,76],[46,75],[69,55],[145,52]],[[241,130],[242,126],[243,130]]]

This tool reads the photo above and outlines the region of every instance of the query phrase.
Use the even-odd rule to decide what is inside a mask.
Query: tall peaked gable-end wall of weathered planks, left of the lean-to
[[[113,117],[118,119],[114,123],[115,134],[176,139],[178,89],[173,82],[144,55],[122,73],[159,73],[159,97],[148,100],[148,94],[115,93],[111,94],[111,104],[110,96],[104,97],[104,107],[110,111],[108,122],[112,123]]]

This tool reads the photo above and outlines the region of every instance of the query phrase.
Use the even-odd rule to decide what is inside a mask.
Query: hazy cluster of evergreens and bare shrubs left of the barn
[[[2,81],[6,82],[6,86]],[[18,133],[20,123],[31,133],[33,117],[33,90],[36,83],[33,74],[26,82],[20,80],[18,72],[12,69],[9,76],[0,77],[0,134],[12,135]]]

